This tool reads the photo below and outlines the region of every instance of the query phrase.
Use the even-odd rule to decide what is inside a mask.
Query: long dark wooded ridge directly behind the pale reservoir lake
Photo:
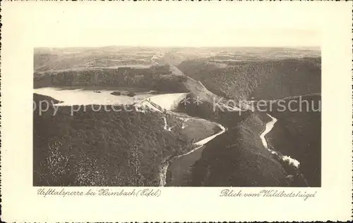
[[[35,73],[34,87],[141,87],[169,92],[186,92],[186,77],[170,74],[169,66],[68,70]]]

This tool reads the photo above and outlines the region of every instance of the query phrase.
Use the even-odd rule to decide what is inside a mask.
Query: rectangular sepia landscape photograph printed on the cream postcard
[[[33,83],[34,186],[321,186],[320,46],[40,47]]]

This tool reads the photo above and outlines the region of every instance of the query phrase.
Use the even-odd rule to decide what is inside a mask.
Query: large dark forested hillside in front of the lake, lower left
[[[53,100],[34,95],[34,101]],[[50,101],[49,100],[49,101]],[[38,108],[37,108],[38,109]],[[35,186],[158,186],[163,160],[191,150],[177,129],[181,120],[161,113],[86,111],[71,107],[33,112]],[[117,108],[116,108],[117,109]],[[133,109],[133,108],[131,108]]]

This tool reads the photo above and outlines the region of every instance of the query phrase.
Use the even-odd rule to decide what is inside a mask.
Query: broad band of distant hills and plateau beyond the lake
[[[107,46],[35,49],[34,60],[35,88],[104,85],[188,92],[196,80],[213,94],[237,100],[321,92],[321,57],[313,49]],[[192,80],[174,75],[174,65]]]

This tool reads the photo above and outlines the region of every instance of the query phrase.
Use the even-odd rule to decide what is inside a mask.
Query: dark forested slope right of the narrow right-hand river
[[[321,186],[321,95],[282,101],[285,108],[289,108],[291,101],[291,110],[281,110],[277,103],[268,110],[278,120],[268,134],[268,141],[277,151],[299,160],[309,186]]]

